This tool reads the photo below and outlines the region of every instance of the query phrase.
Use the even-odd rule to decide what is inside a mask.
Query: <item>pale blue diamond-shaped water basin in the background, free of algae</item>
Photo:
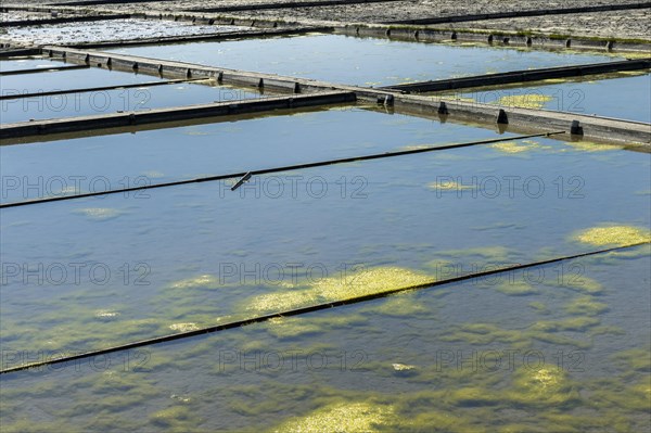
[[[132,47],[114,51],[375,87],[613,60],[600,54],[401,42],[341,35]]]

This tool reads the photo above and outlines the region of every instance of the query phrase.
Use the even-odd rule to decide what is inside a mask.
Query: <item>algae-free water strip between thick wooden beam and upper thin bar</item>
[[[54,145],[12,145],[2,148],[0,168],[4,176],[27,180],[21,180],[20,188],[5,188],[1,201],[56,195],[74,187],[76,176],[86,177],[78,183],[82,191],[92,189],[92,179],[98,179],[98,189],[106,189],[100,177],[115,189],[125,178],[133,181],[142,177],[155,183],[485,137],[493,137],[493,132],[342,106],[235,123],[61,140]],[[56,182],[58,177],[63,177],[65,184]],[[43,188],[24,188],[40,179]]]

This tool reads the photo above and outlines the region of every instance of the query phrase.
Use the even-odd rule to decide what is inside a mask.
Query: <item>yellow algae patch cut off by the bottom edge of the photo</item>
[[[395,417],[393,406],[370,403],[339,403],[292,419],[271,430],[278,433],[380,432]]]

